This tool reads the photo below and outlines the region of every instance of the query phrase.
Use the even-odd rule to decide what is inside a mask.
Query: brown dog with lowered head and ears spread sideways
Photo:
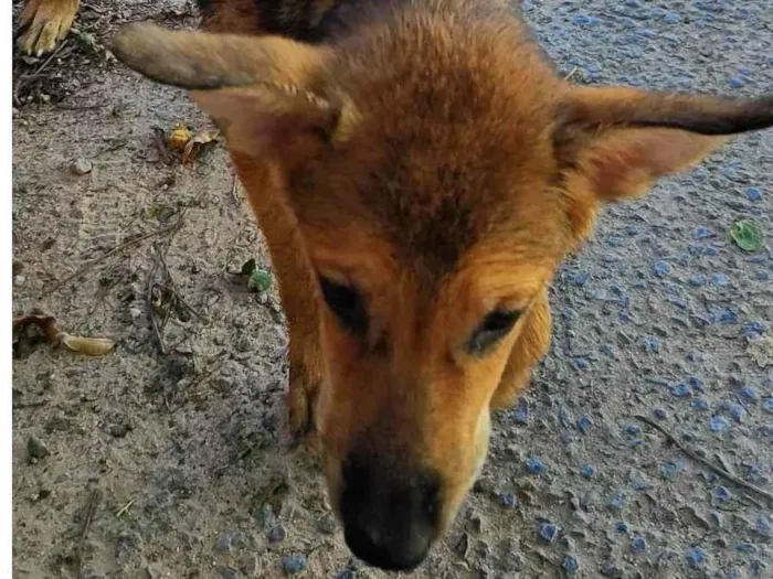
[[[209,32],[133,25],[114,51],[224,129],[282,285],[292,427],[351,550],[412,568],[600,206],[773,125],[773,97],[571,86],[502,0],[200,3]]]

